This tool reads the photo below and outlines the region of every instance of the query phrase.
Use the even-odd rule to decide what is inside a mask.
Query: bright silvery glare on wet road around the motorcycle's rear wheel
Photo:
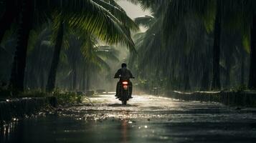
[[[219,108],[223,107],[221,104],[207,104],[199,102],[179,102],[166,97],[154,97],[150,95],[134,96],[127,106],[120,104],[114,95],[102,95],[100,97],[90,98],[94,106],[87,104],[80,107],[71,107],[61,112],[64,116],[75,116],[82,119],[137,119],[137,118],[172,118],[186,119],[191,118],[191,114],[184,114],[184,112],[196,112],[200,116],[200,112],[208,111],[219,112]],[[198,108],[199,109],[196,109]],[[123,114],[123,111],[129,111],[131,114]],[[209,112],[209,111],[208,111]],[[87,113],[87,114],[84,114]],[[171,113],[175,113],[170,117]],[[179,114],[180,113],[180,114]],[[205,115],[205,114],[203,114]],[[193,115],[194,116],[194,115]],[[204,117],[204,116],[203,116]],[[174,120],[173,120],[174,121]],[[177,120],[179,121],[179,120]],[[184,122],[183,121],[183,122]]]

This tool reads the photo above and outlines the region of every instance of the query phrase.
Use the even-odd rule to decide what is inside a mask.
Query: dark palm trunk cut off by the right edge
[[[252,16],[249,89],[256,89],[256,14]]]

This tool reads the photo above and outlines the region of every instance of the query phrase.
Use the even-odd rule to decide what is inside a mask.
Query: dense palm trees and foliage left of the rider
[[[89,89],[90,78],[118,60],[112,46],[100,44],[134,51],[130,32],[138,26],[114,0],[2,0],[0,6],[1,81],[11,90]]]

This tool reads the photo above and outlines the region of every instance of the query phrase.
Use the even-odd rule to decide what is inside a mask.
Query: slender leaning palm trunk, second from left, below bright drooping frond
[[[54,46],[52,64],[51,64],[51,68],[49,69],[49,76],[48,76],[47,86],[46,86],[47,92],[52,92],[53,89],[55,88],[57,68],[60,62],[60,51],[62,47],[63,35],[64,35],[64,27],[63,27],[63,21],[61,21],[59,29],[57,31],[57,39],[56,39],[56,44]]]

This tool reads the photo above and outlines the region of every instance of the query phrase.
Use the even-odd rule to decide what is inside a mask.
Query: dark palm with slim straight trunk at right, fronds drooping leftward
[[[199,15],[205,21],[206,28],[214,20],[213,76],[212,89],[220,89],[219,55],[222,20],[222,2],[217,1],[171,1],[166,11],[164,26],[166,31],[176,32],[176,26],[186,15]],[[208,14],[208,15],[204,15]],[[196,17],[195,17],[196,18]],[[171,26],[169,26],[171,24]],[[164,32],[166,36],[169,34]]]

